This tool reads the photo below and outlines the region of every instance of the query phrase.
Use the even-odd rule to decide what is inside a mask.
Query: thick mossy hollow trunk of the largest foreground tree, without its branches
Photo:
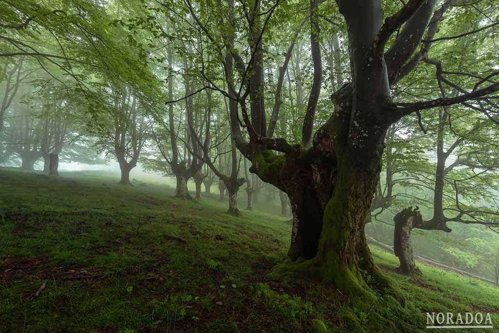
[[[269,277],[315,277],[372,305],[373,285],[393,290],[400,300],[374,264],[364,233],[388,124],[375,116],[382,100],[373,103],[376,99],[365,94],[357,97],[357,108],[372,112],[355,119],[357,126],[351,128],[352,88],[346,84],[333,94],[335,112],[310,149],[298,146],[285,155],[262,151],[250,171],[287,193],[293,214],[289,260]]]

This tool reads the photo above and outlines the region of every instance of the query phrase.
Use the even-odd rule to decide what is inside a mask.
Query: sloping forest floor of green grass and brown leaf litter
[[[291,229],[268,206],[235,218],[218,194],[182,201],[167,185],[113,177],[0,169],[0,332],[293,333],[319,319],[350,333],[345,308],[369,322],[333,286],[266,278]],[[491,313],[498,329],[470,332],[499,332],[499,288],[423,265],[405,277],[396,257],[372,252],[407,300],[373,311],[421,329],[426,312]]]

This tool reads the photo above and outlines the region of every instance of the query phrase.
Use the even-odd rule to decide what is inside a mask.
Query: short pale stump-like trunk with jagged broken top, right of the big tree
[[[421,213],[416,207],[406,208],[393,218],[395,229],[393,231],[393,252],[399,258],[399,271],[403,274],[421,274],[416,266],[412,249],[412,229],[423,223]]]

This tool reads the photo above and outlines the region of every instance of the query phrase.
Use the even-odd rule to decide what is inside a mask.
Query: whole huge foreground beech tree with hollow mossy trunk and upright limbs
[[[227,91],[213,81],[208,81],[206,87],[220,91],[237,103],[238,108],[231,109],[234,142],[251,161],[250,171],[287,193],[291,201],[293,228],[289,258],[271,275],[317,277],[372,304],[377,301],[365,280],[368,274],[378,288],[385,288],[400,299],[399,293],[374,265],[364,234],[366,216],[379,180],[387,131],[408,115],[459,103],[474,106],[499,90],[499,84],[490,80],[497,73],[487,68],[476,78],[474,87],[452,97],[435,96],[407,102],[392,96],[391,88],[404,84],[408,75],[430,59],[430,47],[437,40],[443,14],[454,1],[437,6],[437,1],[411,0],[397,8],[383,6],[376,0],[368,3],[337,0],[348,32],[345,37],[351,72],[349,82],[332,94],[334,111],[315,134],[314,119],[322,82],[318,38],[321,29],[319,2],[311,1],[309,36],[314,75],[301,144],[296,145],[269,135],[276,118],[271,117],[267,125],[263,100],[265,38],[262,36],[279,2],[255,1],[248,7],[243,5],[238,19],[224,15],[224,24],[231,29],[239,29],[240,22],[245,22],[245,29],[239,31],[248,32],[249,43],[245,47],[250,49],[249,61],[245,61],[240,48],[224,31],[217,33],[218,26],[203,16],[210,10],[209,6],[204,2],[185,2],[205,43],[214,45],[214,49],[225,47],[235,59],[237,80],[230,75],[227,62],[221,61]],[[221,4],[215,10],[227,12],[227,7]],[[435,56],[438,54],[432,55]]]

